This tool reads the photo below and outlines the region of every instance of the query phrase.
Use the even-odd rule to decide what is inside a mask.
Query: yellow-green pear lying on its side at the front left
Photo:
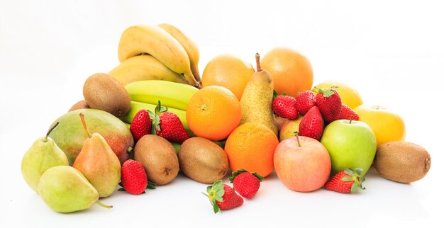
[[[68,213],[84,210],[94,203],[102,207],[99,193],[77,169],[71,166],[54,166],[40,178],[38,193],[43,201],[56,212]]]

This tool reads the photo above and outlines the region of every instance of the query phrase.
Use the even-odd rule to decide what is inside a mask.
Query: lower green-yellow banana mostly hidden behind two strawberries
[[[162,104],[162,101],[160,101],[160,103]],[[140,109],[150,110],[152,113],[155,113],[156,106],[157,106],[157,104],[131,101],[130,110],[128,111],[128,113],[126,113],[126,115],[123,115],[123,117],[121,117],[121,120],[123,122],[131,124],[131,122],[133,122],[133,118],[134,118],[135,114]],[[162,104],[162,106],[163,106],[163,104]],[[191,132],[191,130],[189,130],[189,126],[187,124],[187,113],[184,110],[179,110],[176,108],[168,108],[168,111],[176,114],[179,117],[180,121],[182,122],[182,125],[184,125],[185,130],[187,130],[187,132],[189,132],[189,133]]]

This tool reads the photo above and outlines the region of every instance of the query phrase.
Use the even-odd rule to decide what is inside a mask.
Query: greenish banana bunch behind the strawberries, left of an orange
[[[172,81],[145,80],[133,81],[127,84],[125,89],[131,97],[131,108],[123,116],[123,122],[131,124],[140,109],[147,109],[154,113],[155,107],[160,101],[162,106],[168,108],[169,112],[175,113],[179,117],[185,130],[191,132],[187,124],[186,111],[189,99],[196,91],[199,91],[196,87]]]

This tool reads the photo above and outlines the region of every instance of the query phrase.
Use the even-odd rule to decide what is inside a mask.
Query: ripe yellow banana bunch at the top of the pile
[[[123,85],[141,80],[164,80],[201,88],[199,49],[173,25],[135,25],[118,43],[121,64],[109,74]]]

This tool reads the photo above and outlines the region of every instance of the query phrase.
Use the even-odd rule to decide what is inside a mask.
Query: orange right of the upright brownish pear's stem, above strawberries
[[[309,59],[287,47],[275,47],[260,61],[262,69],[273,76],[274,90],[296,97],[297,92],[313,86],[313,69]]]

